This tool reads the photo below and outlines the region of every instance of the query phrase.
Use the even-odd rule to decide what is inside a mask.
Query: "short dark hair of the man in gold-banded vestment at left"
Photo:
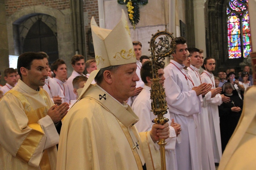
[[[31,69],[31,63],[33,60],[43,60],[42,54],[37,52],[26,52],[18,57],[17,61],[17,71],[19,73],[20,79],[22,80],[22,74],[20,73],[20,68],[25,67],[26,69]]]

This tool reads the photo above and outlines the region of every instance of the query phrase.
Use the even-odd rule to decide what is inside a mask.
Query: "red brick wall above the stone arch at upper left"
[[[5,0],[6,16],[10,16],[24,7],[35,5],[45,5],[56,10],[65,10],[70,8],[70,0]]]

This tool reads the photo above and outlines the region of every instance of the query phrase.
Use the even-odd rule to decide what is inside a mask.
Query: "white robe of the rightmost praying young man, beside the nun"
[[[216,88],[213,74],[209,73],[206,70],[204,70],[201,74],[201,81],[202,83],[211,83],[212,89]],[[222,148],[221,148],[221,131],[219,128],[218,106],[222,104],[222,98],[220,94],[217,94],[213,98],[211,98],[211,96],[212,96],[211,91],[209,91],[205,95],[205,100],[207,104],[204,104],[204,107],[207,107],[208,109],[214,161],[215,163],[219,163],[219,160],[221,159],[221,156],[222,156]]]

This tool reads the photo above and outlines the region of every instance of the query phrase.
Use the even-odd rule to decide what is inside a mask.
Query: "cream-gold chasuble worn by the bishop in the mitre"
[[[57,169],[160,169],[158,146],[149,132],[138,133],[138,120],[126,103],[90,85],[63,121]]]

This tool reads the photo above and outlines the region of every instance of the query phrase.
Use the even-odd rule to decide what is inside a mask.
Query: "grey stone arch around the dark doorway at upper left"
[[[19,49],[15,48],[20,46],[17,44],[18,42],[15,41],[15,39],[18,37],[15,37],[16,34],[14,34],[14,32],[19,31],[17,28],[15,28],[15,24],[17,25],[17,23],[24,22],[24,24],[27,24],[27,27],[31,27],[33,22],[31,22],[32,20],[28,19],[31,17],[35,19],[35,16],[40,15],[45,17],[45,23],[57,35],[60,58],[64,61],[69,61],[70,56],[74,54],[72,28],[70,26],[71,11],[70,9],[59,11],[44,5],[22,8],[20,11],[15,12],[7,18],[9,54],[20,55]],[[55,21],[50,22],[47,21],[47,19]],[[22,36],[26,35],[29,30],[28,28],[25,29],[24,27],[23,29],[24,30],[21,31]]]

